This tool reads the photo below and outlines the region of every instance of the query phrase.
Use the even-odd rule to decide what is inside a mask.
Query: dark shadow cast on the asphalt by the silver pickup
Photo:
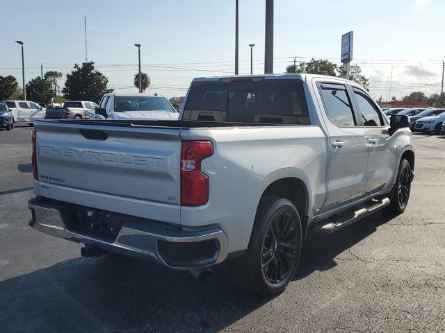
[[[329,237],[310,239],[294,279],[332,268],[334,257],[390,219],[378,213]],[[227,268],[215,267],[213,279],[199,284],[187,272],[114,255],[66,260],[0,282],[0,327],[2,332],[218,332],[270,301],[238,289]]]

